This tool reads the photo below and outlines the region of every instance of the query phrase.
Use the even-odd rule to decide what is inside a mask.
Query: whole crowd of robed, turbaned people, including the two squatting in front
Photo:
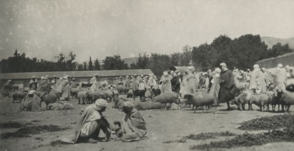
[[[96,91],[101,87],[114,88],[115,86],[130,87],[134,90],[145,89],[160,89],[161,93],[175,92],[179,96],[185,94],[194,94],[200,89],[211,92],[214,96],[214,105],[227,102],[235,97],[236,85],[241,82],[248,82],[248,90],[252,90],[255,95],[264,94],[267,91],[273,90],[276,87],[280,89],[293,91],[294,90],[294,74],[293,69],[289,66],[283,68],[282,64],[278,64],[275,70],[268,71],[265,68],[260,69],[259,65],[253,66],[253,71],[249,69],[246,72],[238,69],[233,71],[227,68],[225,63],[220,64],[220,68],[215,68],[214,71],[208,70],[207,72],[192,72],[192,70],[185,70],[180,73],[177,70],[171,72],[163,72],[161,78],[157,79],[154,75],[133,75],[117,77],[112,81],[112,85],[107,78],[100,83],[98,75],[95,74],[91,80],[90,90]],[[11,80],[3,86],[3,89],[11,88]],[[35,91],[56,91],[61,94],[60,100],[69,100],[71,88],[77,88],[75,78],[69,81],[69,76],[53,79],[49,81],[48,76],[42,76],[38,81],[35,76],[29,82],[29,92],[26,99],[34,100],[37,96],[34,95]],[[3,91],[2,91],[3,92]],[[40,98],[37,98],[40,101]],[[30,101],[32,102],[32,101]],[[25,101],[24,101],[25,103]],[[90,142],[96,143],[99,131],[105,133],[106,140],[110,139],[111,133],[116,134],[117,139],[123,141],[136,141],[147,139],[146,121],[141,116],[139,111],[134,108],[130,101],[123,103],[123,112],[125,117],[122,121],[115,121],[114,124],[118,125],[119,130],[115,130],[102,115],[107,106],[107,101],[98,99],[94,104],[89,105],[82,110],[81,118],[77,124],[75,131],[75,138],[71,141],[64,141],[67,143]],[[25,105],[25,104],[22,104]],[[21,105],[21,106],[22,106]],[[229,104],[228,104],[228,109]],[[115,131],[111,131],[115,130]]]

